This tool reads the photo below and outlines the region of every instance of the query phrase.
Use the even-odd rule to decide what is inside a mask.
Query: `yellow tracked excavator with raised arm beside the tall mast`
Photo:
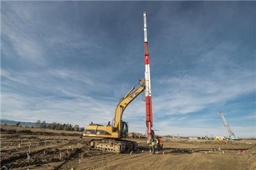
[[[128,136],[128,125],[122,120],[122,115],[125,108],[138,97],[144,89],[145,79],[143,78],[120,99],[119,103],[116,105],[113,125],[110,125],[110,122],[106,126],[91,123],[84,128],[83,136],[100,138],[90,141],[92,148],[115,153],[127,152],[138,148],[135,141],[122,139]]]

